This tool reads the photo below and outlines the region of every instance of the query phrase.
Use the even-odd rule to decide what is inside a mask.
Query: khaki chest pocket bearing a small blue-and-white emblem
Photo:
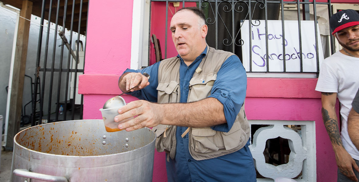
[[[216,80],[216,74],[201,75],[201,77],[193,77],[190,80],[190,94],[188,94],[188,102],[193,102],[207,98],[211,95],[211,90]]]

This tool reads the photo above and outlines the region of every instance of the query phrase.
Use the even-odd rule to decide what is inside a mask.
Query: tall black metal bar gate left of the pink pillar
[[[82,119],[83,95],[80,96],[80,103],[75,104],[76,78],[78,74],[84,73],[83,67],[78,68],[78,63],[79,52],[85,51],[80,36],[86,36],[88,4],[89,0],[42,0],[41,25],[45,26],[46,38],[43,39],[44,26],[40,26],[32,95],[32,100],[37,102],[32,102],[32,126],[42,124],[43,119],[49,123]],[[45,19],[49,24],[55,23],[56,31],[53,35],[50,34],[50,26],[44,24]],[[58,26],[62,26],[62,31],[58,30]],[[66,31],[70,35],[65,35]],[[74,32],[77,33],[77,37],[73,36]],[[49,43],[50,37],[53,38],[52,45]],[[75,51],[72,50],[74,42]],[[58,47],[61,47],[60,56],[56,57]],[[71,66],[73,61],[77,62],[73,64],[75,67]],[[74,77],[73,81],[70,81],[70,77]],[[73,89],[70,92],[71,87]],[[68,99],[71,94],[73,98]]]

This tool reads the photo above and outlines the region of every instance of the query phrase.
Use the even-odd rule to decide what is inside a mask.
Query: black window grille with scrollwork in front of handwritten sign
[[[164,46],[164,58],[167,58],[167,36],[168,36],[168,5],[169,0],[150,0],[150,2],[163,2],[166,4],[166,23],[165,23],[165,46]],[[252,62],[249,61],[250,64],[250,70],[247,72],[259,72],[259,73],[316,73],[318,75],[319,73],[319,50],[318,50],[318,29],[317,29],[317,11],[316,6],[317,5],[327,5],[328,7],[328,17],[331,16],[332,10],[331,10],[331,3],[330,0],[327,0],[327,2],[316,2],[315,0],[312,0],[312,2],[309,2],[309,0],[299,0],[299,1],[283,1],[283,0],[170,0],[170,2],[181,2],[182,7],[185,7],[185,3],[187,2],[195,2],[197,4],[197,8],[200,8],[204,10],[205,16],[206,16],[206,24],[209,27],[209,33],[207,34],[206,41],[209,46],[214,47],[216,49],[222,49],[224,51],[229,51],[232,53],[235,53],[241,60],[242,60],[242,47],[248,46],[251,50],[252,48],[252,42],[249,41],[249,44],[246,45],[243,41],[243,39],[240,37],[241,31],[248,31],[252,32],[253,28],[261,23],[265,23],[265,42],[266,42],[266,54],[264,56],[265,58],[265,65],[266,65],[266,71],[252,71]],[[151,12],[151,4],[150,3],[150,12]],[[313,7],[313,13],[314,13],[314,20],[313,27],[314,27],[314,36],[315,36],[315,49],[316,53],[316,71],[311,72],[304,72],[303,71],[303,57],[298,56],[300,59],[299,67],[300,71],[287,71],[286,70],[286,59],[287,56],[283,56],[283,71],[269,71],[270,66],[270,53],[268,50],[268,20],[278,20],[279,14],[281,14],[281,26],[282,26],[282,35],[283,35],[283,47],[282,47],[282,55],[286,55],[285,52],[285,17],[284,17],[284,5],[296,5],[297,6],[297,24],[298,24],[298,36],[299,36],[299,55],[303,55],[302,52],[302,34],[301,34],[301,21],[300,20],[310,20],[309,17],[309,6]],[[301,7],[302,10],[299,8]],[[181,7],[179,7],[181,8]],[[249,22],[252,22],[249,26],[249,29],[244,29],[242,27],[243,20],[249,20]],[[329,25],[328,25],[329,26]],[[151,14],[150,14],[150,28],[151,30]],[[213,31],[214,30],[214,31]],[[151,36],[151,35],[150,35]],[[171,35],[169,35],[171,36]],[[252,35],[250,33],[250,39],[251,40]],[[150,37],[149,37],[150,39]],[[320,41],[320,40],[319,40]],[[330,36],[330,42],[331,42],[331,52],[334,53],[334,42],[333,42],[333,36]],[[149,45],[150,46],[150,45]],[[149,49],[150,50],[150,49]],[[249,60],[252,60],[253,58],[253,52],[249,51]],[[242,60],[243,62],[243,60]],[[148,61],[149,63],[149,61]],[[148,64],[149,65],[149,64]]]

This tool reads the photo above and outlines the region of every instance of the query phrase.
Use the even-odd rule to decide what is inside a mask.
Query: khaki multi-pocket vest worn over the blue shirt
[[[190,80],[187,102],[205,99],[211,95],[219,68],[232,55],[234,54],[208,47],[206,56]],[[164,59],[160,62],[158,70],[158,103],[180,102],[179,86],[180,58]],[[152,129],[157,135],[156,149],[158,152],[167,153],[167,161],[169,157],[174,159],[176,155],[176,128],[177,126],[174,125],[160,124]],[[196,160],[211,159],[236,152],[247,143],[250,137],[250,126],[244,112],[244,103],[228,132],[215,131],[210,127],[188,129],[188,149]]]

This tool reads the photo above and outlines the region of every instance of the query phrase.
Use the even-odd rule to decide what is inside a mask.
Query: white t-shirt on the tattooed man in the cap
[[[348,115],[351,102],[359,88],[359,58],[336,52],[324,59],[318,77],[316,91],[336,92],[341,104],[341,140],[346,151],[359,160],[359,151],[348,134]]]

